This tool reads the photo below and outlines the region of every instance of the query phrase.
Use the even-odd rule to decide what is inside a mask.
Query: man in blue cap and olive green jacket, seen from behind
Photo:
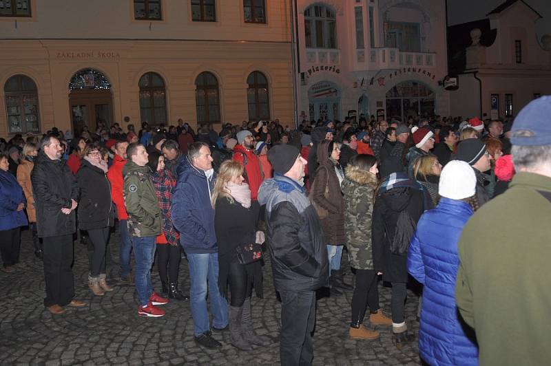
[[[455,297],[461,316],[475,328],[481,365],[547,365],[551,96],[526,105],[511,132],[517,174],[465,226]]]

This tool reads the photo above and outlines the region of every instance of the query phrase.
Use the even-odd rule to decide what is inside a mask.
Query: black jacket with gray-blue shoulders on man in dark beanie
[[[264,180],[258,203],[266,205],[266,241],[278,291],[313,291],[329,279],[320,219],[306,191],[282,175]]]

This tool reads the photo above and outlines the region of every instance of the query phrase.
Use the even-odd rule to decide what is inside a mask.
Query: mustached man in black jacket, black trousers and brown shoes
[[[45,307],[52,314],[63,314],[62,306],[81,308],[86,304],[73,299],[74,210],[79,186],[69,167],[61,160],[63,148],[57,138],[46,136],[32,169],[34,206],[37,209],[38,235],[43,239]]]

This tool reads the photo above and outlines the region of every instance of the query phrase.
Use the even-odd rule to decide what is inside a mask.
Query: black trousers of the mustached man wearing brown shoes
[[[45,306],[67,305],[74,297],[73,235],[43,238]]]

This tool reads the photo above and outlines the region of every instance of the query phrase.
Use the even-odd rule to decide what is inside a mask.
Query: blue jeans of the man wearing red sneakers
[[[136,258],[136,291],[141,305],[147,305],[153,294],[151,267],[155,257],[156,237],[132,237],[134,257]]]

